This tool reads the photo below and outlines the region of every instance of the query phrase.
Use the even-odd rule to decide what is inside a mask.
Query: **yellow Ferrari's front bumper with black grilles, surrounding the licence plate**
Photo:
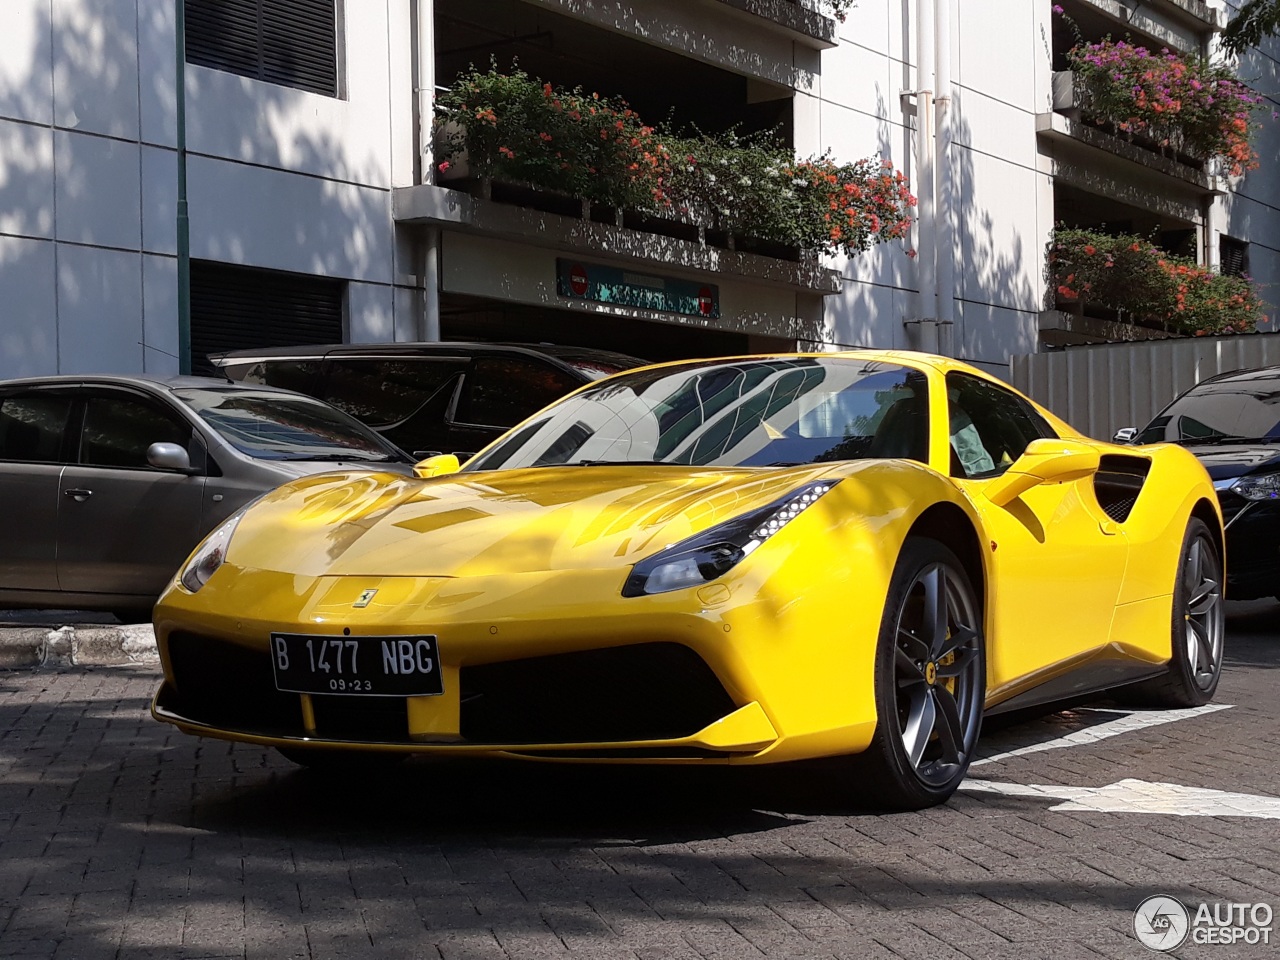
[[[845,716],[805,705],[796,669],[806,664],[790,662],[759,598],[736,602],[718,585],[623,599],[617,581],[575,571],[300,582],[221,570],[198,594],[174,589],[156,608],[165,681],[152,714],[189,733],[273,746],[559,760],[765,762],[869,742],[869,682],[860,708],[846,691]],[[369,590],[375,600],[353,607]],[[435,635],[444,692],[276,690],[276,631]]]

